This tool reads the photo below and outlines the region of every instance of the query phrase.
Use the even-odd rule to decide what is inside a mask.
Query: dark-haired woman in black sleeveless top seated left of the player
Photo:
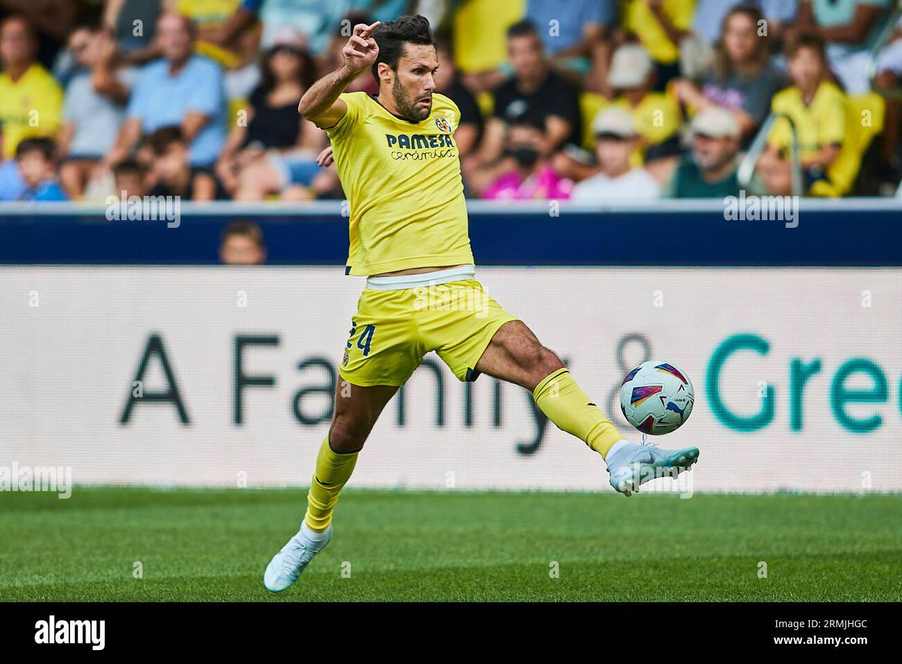
[[[284,39],[263,58],[263,80],[253,91],[248,122],[233,127],[216,173],[241,201],[262,201],[317,176],[326,134],[298,115],[298,102],[316,76],[300,35]]]

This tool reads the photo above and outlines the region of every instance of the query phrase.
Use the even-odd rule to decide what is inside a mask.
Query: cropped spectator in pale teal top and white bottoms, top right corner
[[[850,95],[870,90],[868,61],[887,19],[890,0],[801,0],[791,42],[797,33],[827,43],[827,61]]]

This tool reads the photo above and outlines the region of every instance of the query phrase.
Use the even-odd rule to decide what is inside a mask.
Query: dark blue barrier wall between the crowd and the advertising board
[[[726,220],[722,201],[661,201],[592,210],[548,203],[470,203],[480,265],[902,266],[902,201],[801,201],[798,226]],[[165,221],[108,221],[104,207],[0,207],[0,264],[184,265],[217,262],[233,220],[260,224],[272,265],[345,265],[338,202],[183,204]]]

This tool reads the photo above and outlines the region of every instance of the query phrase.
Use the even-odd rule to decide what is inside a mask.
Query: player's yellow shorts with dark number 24
[[[400,290],[364,290],[338,372],[352,385],[403,385],[436,351],[458,380],[475,380],[476,362],[505,312],[473,279]]]

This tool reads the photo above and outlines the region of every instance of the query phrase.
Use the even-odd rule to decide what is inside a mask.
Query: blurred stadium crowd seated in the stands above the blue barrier
[[[0,201],[344,198],[299,99],[411,13],[470,197],[723,198],[771,113],[759,192],[897,190],[895,0],[0,0]]]

